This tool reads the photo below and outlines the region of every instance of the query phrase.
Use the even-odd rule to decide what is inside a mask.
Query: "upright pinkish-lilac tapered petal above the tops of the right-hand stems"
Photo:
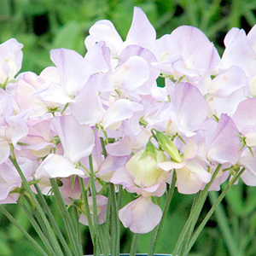
[[[239,131],[229,116],[222,114],[218,121],[212,143],[208,145],[207,159],[220,164],[230,162],[236,164],[241,152],[240,139],[237,136]]]

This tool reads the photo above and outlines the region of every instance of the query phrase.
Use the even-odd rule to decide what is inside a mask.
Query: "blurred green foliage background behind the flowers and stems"
[[[224,50],[224,36],[231,27],[237,26],[248,32],[256,24],[256,1],[252,0],[0,0],[0,43],[16,38],[24,44],[21,71],[40,73],[44,67],[52,65],[49,60],[50,49],[64,47],[84,55],[84,38],[97,20],[111,20],[125,39],[134,6],[141,7],[148,15],[158,38],[172,32],[177,26],[196,26],[206,33],[220,54]],[[210,193],[202,214],[207,212],[217,196],[217,192]],[[129,196],[126,196],[125,201],[128,199]],[[157,253],[172,252],[192,200],[193,195],[175,194]],[[60,226],[63,226],[54,203],[52,207]],[[26,230],[34,234],[18,207],[6,208]],[[231,189],[189,255],[255,256],[255,211],[256,189],[239,183]],[[84,253],[92,253],[87,229],[83,226],[82,229]],[[131,242],[131,233],[123,229],[121,235],[121,248],[125,253]],[[148,235],[140,236],[139,253],[147,252],[148,241]],[[15,255],[38,254],[0,213],[0,256]]]

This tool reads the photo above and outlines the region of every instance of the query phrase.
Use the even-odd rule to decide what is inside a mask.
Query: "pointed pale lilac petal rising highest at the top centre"
[[[154,45],[155,38],[154,26],[150,24],[143,10],[135,7],[131,28],[127,34],[125,44],[136,44],[143,48],[151,49]]]

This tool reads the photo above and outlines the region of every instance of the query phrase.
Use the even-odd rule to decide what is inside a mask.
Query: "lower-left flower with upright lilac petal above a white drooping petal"
[[[64,155],[49,154],[38,167],[37,177],[84,176],[76,166],[94,147],[95,137],[90,126],[79,125],[72,115],[55,117],[50,124],[60,137]]]

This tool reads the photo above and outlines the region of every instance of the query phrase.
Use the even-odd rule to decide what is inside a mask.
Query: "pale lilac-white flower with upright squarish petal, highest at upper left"
[[[89,61],[71,49],[53,49],[50,58],[56,67],[44,70],[41,76],[46,83],[33,96],[59,107],[73,102],[73,98],[84,88],[84,84],[96,70]]]

